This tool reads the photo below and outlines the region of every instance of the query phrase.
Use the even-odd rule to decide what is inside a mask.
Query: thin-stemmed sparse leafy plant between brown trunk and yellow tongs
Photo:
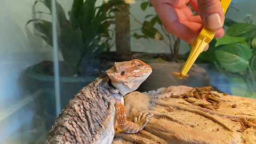
[[[140,5],[140,8],[143,12],[146,11],[148,7],[153,8],[149,1],[143,1]],[[136,19],[131,13],[130,15],[132,18],[140,23],[142,26],[139,30],[140,33],[134,33],[133,37],[139,38],[146,38],[146,39],[155,39],[155,41],[163,41],[169,48],[171,52],[172,61],[176,61],[179,54],[179,44],[180,39],[175,37],[172,34],[166,33],[164,27],[162,25],[161,20],[158,18],[156,14],[148,14],[145,15],[145,21],[140,22]],[[138,29],[137,29],[138,30]]]

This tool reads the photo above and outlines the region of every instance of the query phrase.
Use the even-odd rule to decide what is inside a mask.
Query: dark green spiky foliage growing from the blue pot
[[[91,63],[102,51],[109,51],[114,32],[110,25],[114,21],[115,5],[121,1],[108,1],[96,6],[97,0],[74,0],[67,19],[65,10],[56,2],[58,17],[58,44],[64,61],[74,70],[74,74],[81,74],[81,69]],[[51,14],[51,0],[36,1],[34,5],[43,3]],[[45,13],[45,12],[35,12]],[[52,43],[52,23],[43,19],[32,19],[35,28],[42,34],[44,41]]]

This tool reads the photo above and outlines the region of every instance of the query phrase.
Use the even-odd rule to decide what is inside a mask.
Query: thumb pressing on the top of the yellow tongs
[[[225,16],[220,0],[197,0],[197,4],[204,26],[213,31],[217,31],[223,27]]]

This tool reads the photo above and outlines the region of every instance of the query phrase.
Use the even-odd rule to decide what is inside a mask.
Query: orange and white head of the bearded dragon
[[[111,84],[119,90],[122,95],[138,89],[151,74],[152,69],[141,60],[115,62],[115,65],[107,70]]]

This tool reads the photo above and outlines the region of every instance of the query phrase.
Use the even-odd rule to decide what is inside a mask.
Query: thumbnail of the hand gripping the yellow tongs
[[[221,18],[218,13],[208,15],[205,21],[207,25],[206,27],[209,29],[219,29],[222,27]]]

